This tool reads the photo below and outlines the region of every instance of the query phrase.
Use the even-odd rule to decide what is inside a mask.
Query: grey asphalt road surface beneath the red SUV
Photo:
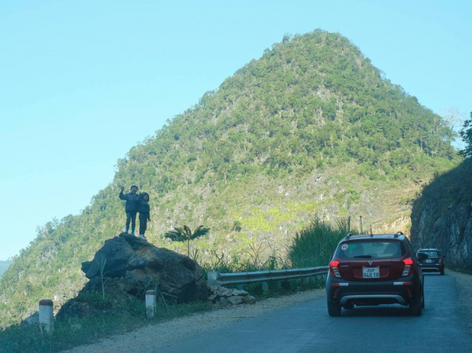
[[[472,352],[462,324],[454,278],[425,275],[425,309],[382,305],[344,310],[331,318],[326,298],[243,320],[155,353]]]

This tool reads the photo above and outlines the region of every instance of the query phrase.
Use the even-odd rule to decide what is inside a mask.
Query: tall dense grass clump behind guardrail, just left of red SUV
[[[289,261],[292,268],[327,266],[339,241],[351,229],[351,218],[339,218],[335,225],[314,220],[296,233],[289,246]]]

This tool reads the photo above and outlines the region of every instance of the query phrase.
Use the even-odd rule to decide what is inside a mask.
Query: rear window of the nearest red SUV
[[[341,259],[389,259],[406,254],[400,241],[356,241],[339,244],[336,256]]]

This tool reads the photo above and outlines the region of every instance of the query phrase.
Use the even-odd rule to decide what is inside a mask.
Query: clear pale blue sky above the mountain
[[[348,37],[420,103],[472,111],[469,1],[2,1],[0,260],[285,33]]]

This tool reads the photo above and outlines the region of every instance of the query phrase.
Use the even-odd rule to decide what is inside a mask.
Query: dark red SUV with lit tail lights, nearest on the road
[[[414,316],[424,308],[423,273],[419,252],[402,232],[348,234],[339,241],[326,279],[328,313],[340,316],[341,308],[354,305],[402,304]]]

